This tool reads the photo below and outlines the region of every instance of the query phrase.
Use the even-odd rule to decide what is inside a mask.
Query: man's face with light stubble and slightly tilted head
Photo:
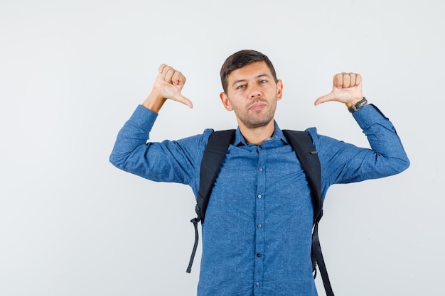
[[[235,111],[240,127],[260,128],[273,124],[282,89],[282,81],[274,81],[265,62],[254,62],[230,73],[227,93],[220,99],[225,109]]]

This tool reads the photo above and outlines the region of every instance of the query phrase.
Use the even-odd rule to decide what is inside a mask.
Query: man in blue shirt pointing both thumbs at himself
[[[153,90],[122,127],[110,161],[149,180],[190,185],[198,194],[200,162],[212,129],[178,141],[146,143],[166,99],[192,107],[181,94],[186,77],[159,67]],[[294,150],[274,121],[283,82],[262,53],[241,50],[221,69],[223,106],[238,128],[213,187],[203,223],[198,295],[317,295],[312,274],[313,207]],[[362,79],[333,77],[315,104],[344,103],[372,149],[358,148],[308,128],[321,162],[323,197],[330,185],[395,175],[409,166],[391,122],[366,104]]]

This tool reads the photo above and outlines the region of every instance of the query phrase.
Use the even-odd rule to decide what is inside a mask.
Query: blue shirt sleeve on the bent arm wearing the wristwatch
[[[377,107],[365,106],[353,116],[368,138],[370,148],[321,136],[316,128],[307,130],[318,150],[325,190],[335,183],[396,175],[409,167],[409,159],[395,127]]]

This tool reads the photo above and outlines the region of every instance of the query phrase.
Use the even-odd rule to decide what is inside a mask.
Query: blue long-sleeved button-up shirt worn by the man
[[[190,185],[198,194],[200,161],[213,132],[147,142],[157,114],[138,106],[119,131],[110,161],[149,180]],[[374,106],[353,114],[370,146],[358,148],[308,128],[330,185],[386,177],[409,166],[391,122]],[[313,208],[306,177],[275,123],[261,145],[235,141],[213,187],[205,223],[198,295],[317,295],[312,275]]]

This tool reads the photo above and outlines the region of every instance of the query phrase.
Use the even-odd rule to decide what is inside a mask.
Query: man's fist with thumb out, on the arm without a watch
[[[186,84],[186,77],[180,71],[162,64],[159,67],[159,75],[154,81],[151,94],[149,94],[149,97],[146,98],[142,105],[158,112],[163,103],[166,102],[166,99],[172,99],[193,108],[191,100],[181,94],[184,84]]]

